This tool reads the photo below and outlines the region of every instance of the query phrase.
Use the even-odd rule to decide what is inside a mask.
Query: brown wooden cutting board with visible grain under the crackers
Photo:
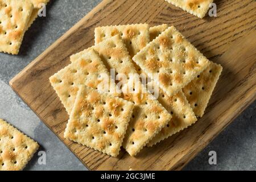
[[[89,169],[181,169],[256,98],[256,3],[215,2],[218,17],[199,19],[163,0],[104,0],[10,85]],[[112,158],[65,140],[68,115],[48,78],[68,65],[73,53],[94,44],[95,27],[145,22],[151,26],[174,24],[205,56],[224,67],[204,117],[155,147],[144,148],[135,157],[122,150],[118,158]]]

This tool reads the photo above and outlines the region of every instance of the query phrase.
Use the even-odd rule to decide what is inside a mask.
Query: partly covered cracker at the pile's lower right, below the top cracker
[[[172,119],[147,144],[148,147],[154,146],[161,140],[171,137],[197,121],[197,118],[183,92],[179,92],[175,96],[168,97],[167,94],[160,89],[158,101],[169,113],[172,114]]]

